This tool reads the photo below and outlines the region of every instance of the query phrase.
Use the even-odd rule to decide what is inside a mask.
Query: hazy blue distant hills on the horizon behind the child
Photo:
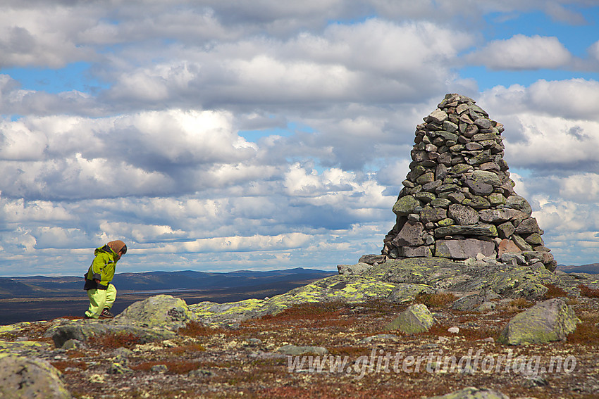
[[[118,291],[157,291],[168,289],[252,289],[276,287],[293,281],[323,279],[337,274],[333,271],[304,269],[257,272],[239,270],[227,273],[194,272],[144,272],[117,273],[113,284]],[[32,298],[37,296],[72,296],[83,289],[83,277],[0,277],[0,298]]]

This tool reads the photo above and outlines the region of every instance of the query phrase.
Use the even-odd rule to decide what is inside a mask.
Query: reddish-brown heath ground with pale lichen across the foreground
[[[495,396],[487,398],[597,398],[597,280],[561,275],[542,296],[497,296],[476,311],[457,310],[464,292],[450,290],[423,291],[399,303],[297,303],[245,321],[187,322],[168,339],[148,343],[109,331],[56,348],[48,330],[87,321],[13,324],[0,327],[0,359],[11,354],[46,360],[74,398],[427,398],[470,386],[493,390]],[[498,343],[510,319],[555,297],[581,320],[566,341]],[[418,334],[388,331],[413,303],[433,312],[433,327]],[[315,360],[323,365],[310,370]]]

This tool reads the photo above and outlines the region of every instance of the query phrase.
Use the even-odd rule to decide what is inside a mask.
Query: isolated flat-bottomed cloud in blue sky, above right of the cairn
[[[572,61],[571,54],[557,37],[529,37],[524,34],[489,42],[467,58],[471,63],[492,70],[553,69]]]

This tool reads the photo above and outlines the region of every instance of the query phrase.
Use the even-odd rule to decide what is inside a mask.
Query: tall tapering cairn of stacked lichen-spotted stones
[[[555,270],[531,205],[514,192],[503,160],[503,131],[459,94],[447,94],[424,118],[393,205],[396,223],[383,241],[386,258],[505,260],[513,258],[505,254],[516,254]]]

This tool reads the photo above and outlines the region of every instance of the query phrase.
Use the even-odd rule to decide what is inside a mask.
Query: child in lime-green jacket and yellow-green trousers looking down
[[[121,240],[110,241],[94,250],[94,261],[85,273],[85,286],[89,298],[89,308],[85,312],[88,319],[114,317],[111,308],[116,299],[116,288],[111,281],[116,262],[127,253],[127,246]]]

